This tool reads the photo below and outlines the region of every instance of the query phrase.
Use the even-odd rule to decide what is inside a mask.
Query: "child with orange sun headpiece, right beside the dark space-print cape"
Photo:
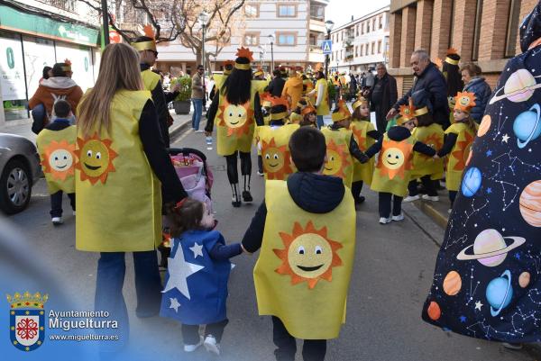
[[[451,209],[464,168],[468,165],[470,150],[478,128],[470,115],[475,106],[475,95],[468,92],[458,93],[454,97],[454,103],[454,124],[445,130],[444,147],[437,152],[437,158],[443,158],[449,154],[445,185],[449,191]]]

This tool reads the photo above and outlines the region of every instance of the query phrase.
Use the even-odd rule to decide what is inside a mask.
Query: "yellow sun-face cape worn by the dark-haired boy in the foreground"
[[[293,201],[286,182],[265,188],[268,212],[253,269],[259,314],[278,317],[295,338],[337,338],[353,268],[353,197],[346,192],[332,212],[311,213]]]

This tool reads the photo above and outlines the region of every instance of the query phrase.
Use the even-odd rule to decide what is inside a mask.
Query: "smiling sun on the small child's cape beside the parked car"
[[[75,174],[75,144],[67,140],[52,140],[41,154],[43,173],[49,173],[53,179],[66,180]]]

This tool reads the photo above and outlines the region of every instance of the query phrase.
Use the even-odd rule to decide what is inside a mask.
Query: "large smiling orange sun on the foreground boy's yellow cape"
[[[326,227],[316,230],[312,221],[305,229],[297,221],[292,234],[280,232],[284,249],[273,249],[282,264],[276,268],[280,275],[290,275],[291,284],[307,282],[308,288],[316,287],[317,281],[333,280],[333,267],[342,266],[336,253],[342,245],[327,237]]]

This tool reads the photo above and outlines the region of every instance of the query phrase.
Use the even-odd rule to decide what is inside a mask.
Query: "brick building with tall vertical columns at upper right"
[[[391,75],[399,94],[408,91],[413,76],[409,59],[422,48],[431,59],[445,59],[458,50],[461,63],[473,61],[492,88],[506,62],[520,52],[518,25],[536,0],[391,0]]]

